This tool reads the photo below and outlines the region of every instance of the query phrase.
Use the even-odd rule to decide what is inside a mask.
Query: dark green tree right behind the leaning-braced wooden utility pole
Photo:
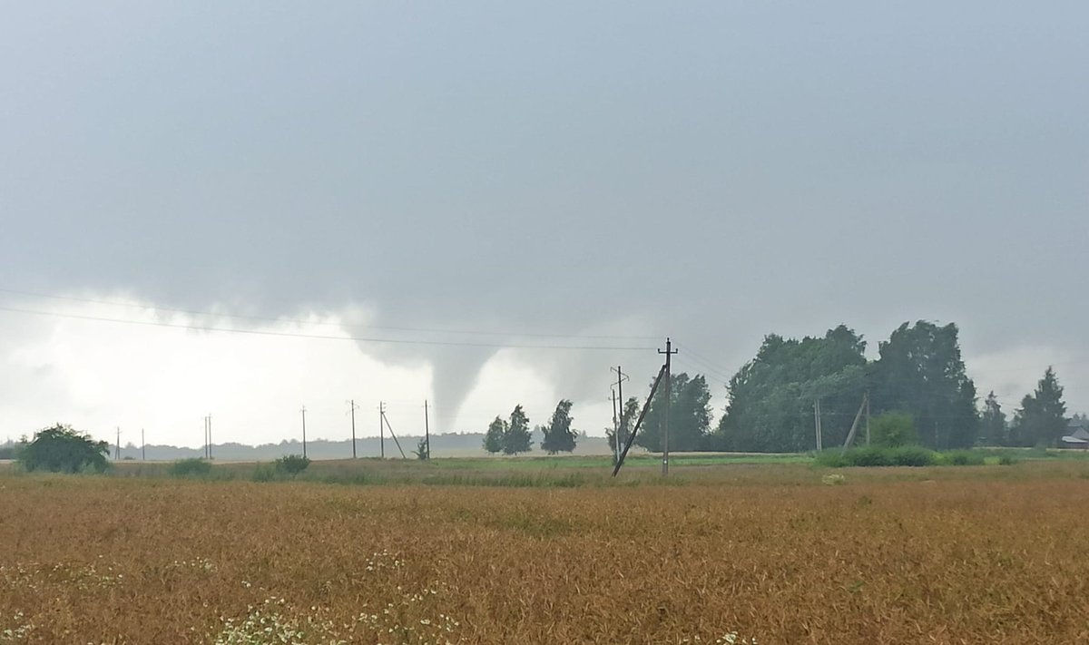
[[[711,425],[711,393],[702,375],[688,378],[684,372],[673,375],[670,391],[670,450],[687,452],[707,449]],[[651,452],[661,452],[665,389],[658,387],[650,410],[643,421],[635,442]]]

